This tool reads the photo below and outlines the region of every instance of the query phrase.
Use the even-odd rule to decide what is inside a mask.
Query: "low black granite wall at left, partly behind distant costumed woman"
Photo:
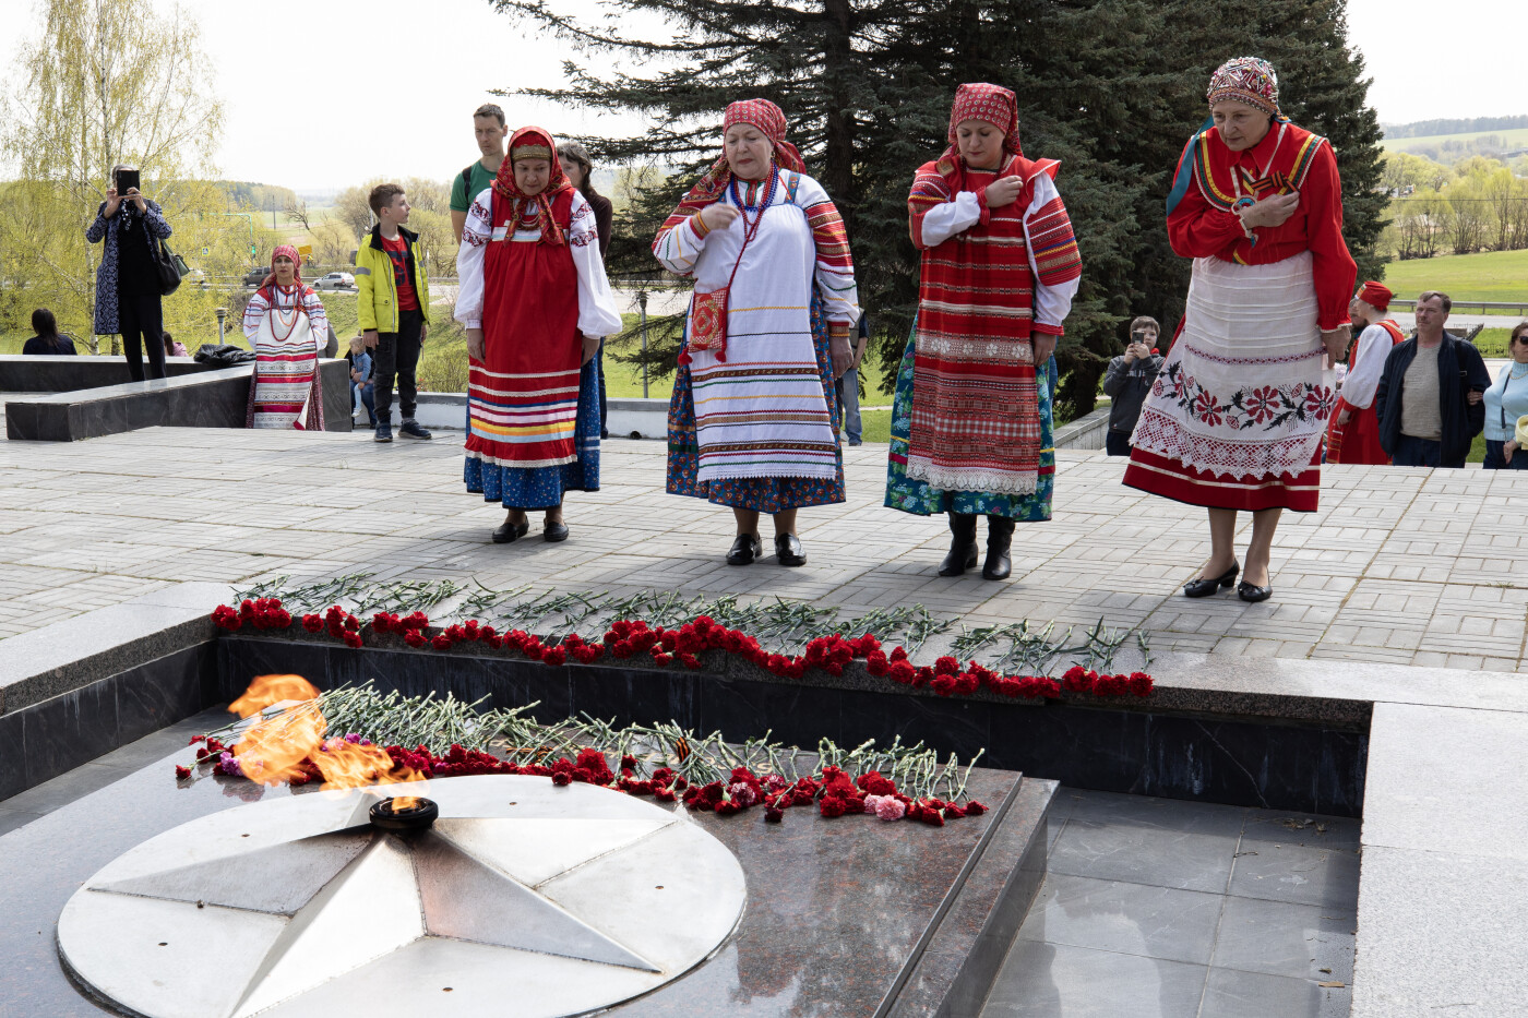
[[[9,399],[6,434],[18,440],[79,442],[154,426],[243,428],[252,371],[254,365],[238,365]],[[325,430],[350,431],[348,364],[319,361],[319,376]]]

